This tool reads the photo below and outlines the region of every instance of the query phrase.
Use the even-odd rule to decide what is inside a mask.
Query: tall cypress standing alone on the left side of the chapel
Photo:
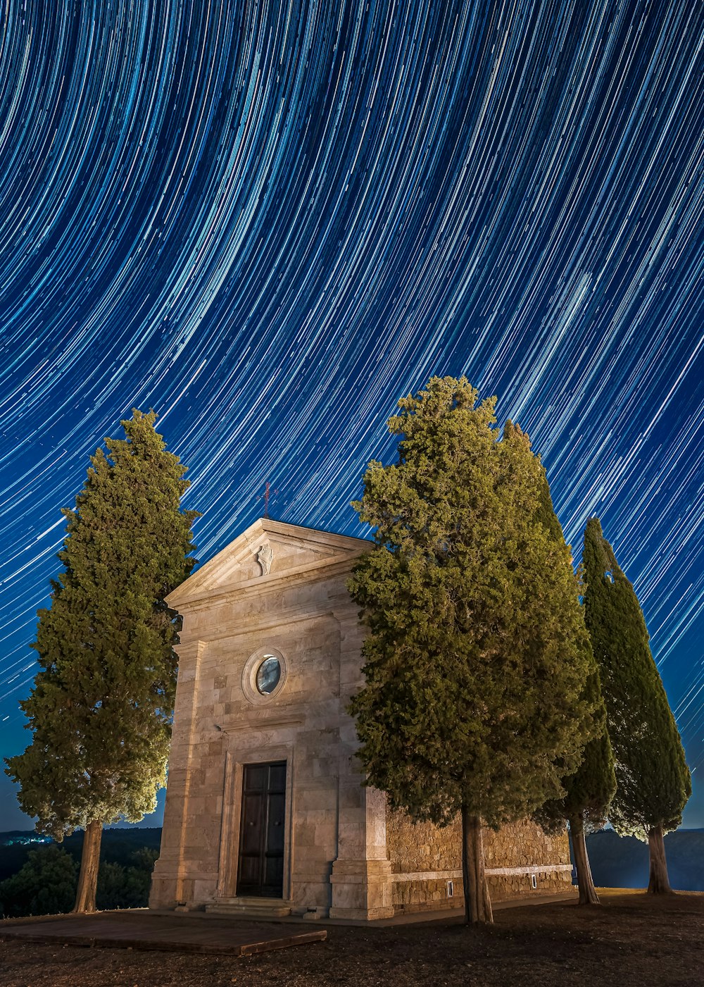
[[[195,564],[198,514],[179,507],[185,468],[155,420],[122,421],[125,438],[106,439],[63,510],[64,569],[38,613],[40,670],[20,704],[34,738],[7,759],[40,832],[85,829],[75,911],[95,911],[103,826],[138,821],[166,784],[178,618],[164,598]]]

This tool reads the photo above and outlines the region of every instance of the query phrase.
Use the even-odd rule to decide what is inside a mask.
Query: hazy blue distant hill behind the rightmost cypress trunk
[[[603,830],[587,837],[598,887],[647,887],[648,846]],[[704,891],[704,829],[678,829],[665,838],[669,882],[678,891]]]

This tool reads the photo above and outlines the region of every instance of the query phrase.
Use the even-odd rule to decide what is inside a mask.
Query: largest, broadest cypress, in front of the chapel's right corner
[[[476,397],[434,377],[398,402],[398,461],[370,463],[353,505],[376,548],[349,582],[369,629],[350,705],[368,783],[415,820],[460,814],[468,923],[492,918],[482,823],[559,797],[591,714],[569,552],[535,516],[542,467]]]

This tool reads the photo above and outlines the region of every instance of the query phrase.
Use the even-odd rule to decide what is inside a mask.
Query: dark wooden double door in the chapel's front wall
[[[282,898],[286,762],[246,764],[243,771],[238,895]]]

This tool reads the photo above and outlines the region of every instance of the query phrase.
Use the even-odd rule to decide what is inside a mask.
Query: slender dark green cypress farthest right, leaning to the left
[[[663,837],[682,821],[692,791],[689,769],[643,611],[597,517],[587,523],[583,562],[585,617],[616,764],[609,822],[620,836],[648,842],[648,890],[668,892]]]

